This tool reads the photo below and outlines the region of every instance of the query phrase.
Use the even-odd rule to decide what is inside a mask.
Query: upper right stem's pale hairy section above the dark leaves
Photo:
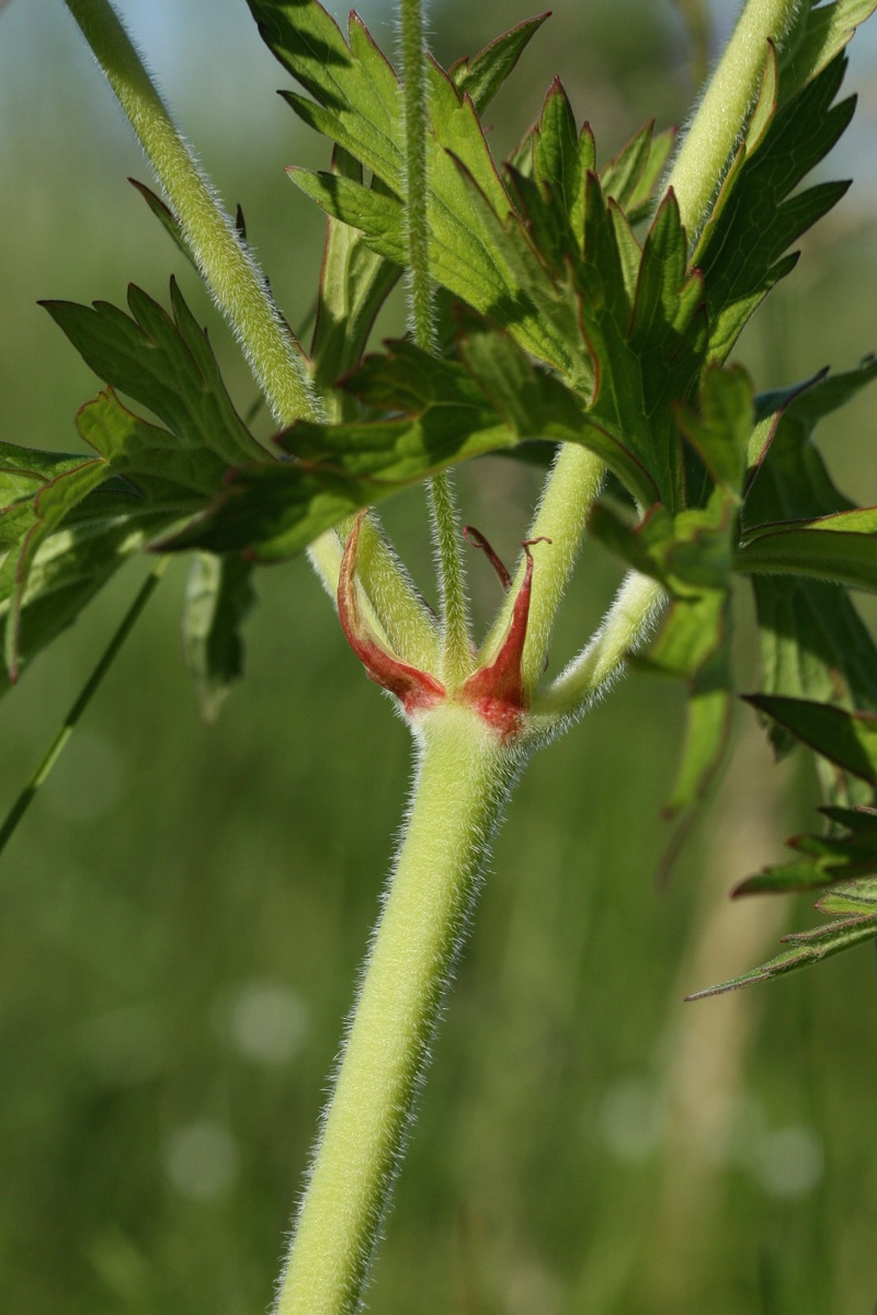
[[[748,0],[682,137],[667,187],[676,192],[692,245],[709,216],[755,105],[768,59],[768,41],[781,43],[799,3]]]

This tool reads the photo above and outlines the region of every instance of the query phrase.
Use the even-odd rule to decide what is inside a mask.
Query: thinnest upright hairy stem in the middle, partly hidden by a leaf
[[[408,235],[409,309],[414,342],[435,352],[434,292],[429,256],[426,176],[426,46],[421,0],[401,0],[402,105],[405,118],[405,224]],[[458,685],[472,669],[469,609],[460,521],[450,472],[427,485],[433,542],[439,571],[443,654],[442,679]]]

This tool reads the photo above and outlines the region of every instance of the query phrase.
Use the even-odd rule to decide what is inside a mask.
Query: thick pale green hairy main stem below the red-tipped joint
[[[405,840],[363,978],[276,1315],[352,1315],[518,755],[467,709],[422,718]]]

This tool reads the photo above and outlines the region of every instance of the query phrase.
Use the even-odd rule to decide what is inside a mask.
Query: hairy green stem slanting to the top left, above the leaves
[[[234,224],[180,137],[109,0],[66,0],[149,156],[216,302],[277,421],[320,418],[292,333]]]

